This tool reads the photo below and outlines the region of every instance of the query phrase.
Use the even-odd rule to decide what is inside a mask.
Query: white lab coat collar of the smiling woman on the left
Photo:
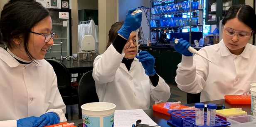
[[[12,55],[10,55],[10,53],[8,53],[4,48],[0,48],[0,54],[0,59],[6,62],[6,64],[10,67],[17,67],[19,65],[22,65],[15,58],[13,58]],[[31,62],[30,64],[41,67],[42,65],[40,64],[40,62],[41,60],[38,60],[37,64],[34,64],[33,62]]]

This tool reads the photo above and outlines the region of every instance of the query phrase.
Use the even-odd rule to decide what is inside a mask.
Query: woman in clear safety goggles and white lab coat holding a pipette
[[[224,99],[224,95],[241,95],[256,82],[256,46],[249,44],[255,35],[256,15],[249,5],[234,5],[224,19],[223,39],[198,52],[217,65],[187,49],[190,43],[179,39],[175,50],[182,54],[175,81],[188,93],[200,93],[201,102]],[[174,38],[175,39],[175,38]]]

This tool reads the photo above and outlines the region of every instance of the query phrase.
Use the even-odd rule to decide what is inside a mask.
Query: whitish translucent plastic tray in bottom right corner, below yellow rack
[[[252,115],[229,117],[227,121],[231,123],[230,127],[256,127],[256,117]]]

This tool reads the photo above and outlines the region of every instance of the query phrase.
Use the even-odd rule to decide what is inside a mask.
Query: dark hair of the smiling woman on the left
[[[33,26],[49,16],[49,11],[35,0],[10,0],[1,12],[0,31],[3,43],[12,49],[12,38],[22,36],[24,48],[30,60],[34,57],[28,50],[29,33]]]

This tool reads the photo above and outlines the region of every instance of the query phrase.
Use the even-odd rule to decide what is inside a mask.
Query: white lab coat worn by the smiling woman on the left
[[[54,112],[67,121],[66,106],[57,88],[57,78],[46,60],[20,64],[0,48],[0,127],[16,127],[16,120]]]

